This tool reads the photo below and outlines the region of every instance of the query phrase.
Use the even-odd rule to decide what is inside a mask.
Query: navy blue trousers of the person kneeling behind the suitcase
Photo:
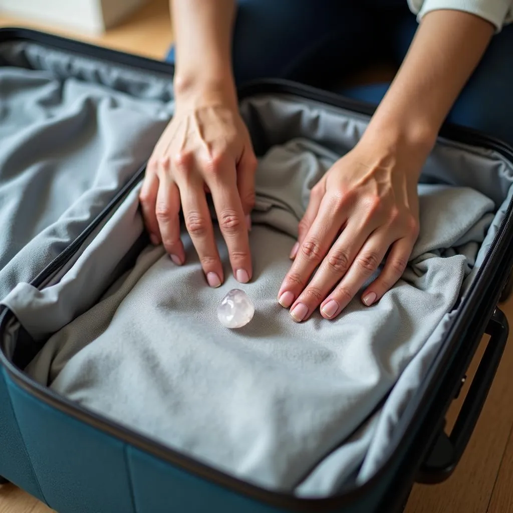
[[[389,83],[340,84],[376,62],[399,67],[417,27],[406,0],[239,0],[235,81],[289,78],[378,104]],[[447,120],[513,144],[513,25],[494,35]]]

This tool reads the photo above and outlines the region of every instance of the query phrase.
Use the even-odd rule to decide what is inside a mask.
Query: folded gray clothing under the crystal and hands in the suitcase
[[[455,305],[494,203],[470,188],[420,185],[421,233],[402,279],[371,307],[358,295],[336,320],[315,312],[297,324],[277,292],[309,190],[337,157],[293,140],[261,159],[251,283],[232,277],[216,229],[227,279],[209,288],[184,231],[184,266],[162,247],[145,248],[100,301],[50,338],[27,372],[266,488],[292,491],[310,478],[322,487],[334,472],[349,475],[371,442],[380,401]],[[253,320],[239,330],[216,317],[232,288],[255,304]]]

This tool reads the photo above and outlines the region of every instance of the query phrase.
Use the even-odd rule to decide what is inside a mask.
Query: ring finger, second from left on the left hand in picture
[[[162,243],[176,265],[185,262],[184,245],[180,239],[180,192],[169,173],[169,158],[161,160],[159,190],[155,216],[159,223]]]

